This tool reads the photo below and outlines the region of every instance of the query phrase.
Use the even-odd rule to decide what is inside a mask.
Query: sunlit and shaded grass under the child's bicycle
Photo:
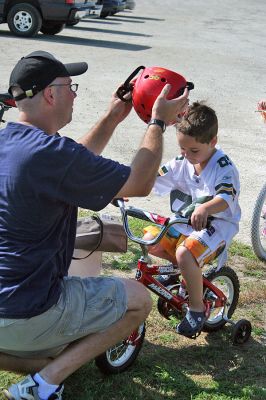
[[[142,225],[134,229],[141,234]],[[105,253],[103,274],[132,277],[139,256],[134,243],[126,254]],[[232,344],[229,324],[217,332],[202,333],[197,340],[176,335],[173,321],[158,313],[153,295],[145,342],[134,365],[120,375],[104,376],[94,362],[88,363],[65,382],[64,400],[266,399],[266,265],[239,242],[230,248],[228,265],[241,284],[233,318],[252,323],[247,343]],[[1,372],[0,386],[19,378]]]

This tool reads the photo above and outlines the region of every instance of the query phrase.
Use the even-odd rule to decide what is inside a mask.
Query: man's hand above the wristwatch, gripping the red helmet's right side
[[[152,118],[160,119],[166,125],[172,125],[173,121],[177,121],[178,115],[186,111],[189,102],[189,90],[187,88],[181,96],[167,100],[170,89],[171,85],[166,84],[152,107]]]

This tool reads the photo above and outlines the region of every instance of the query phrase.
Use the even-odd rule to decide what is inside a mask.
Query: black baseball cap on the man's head
[[[55,78],[81,75],[87,69],[88,64],[85,62],[63,64],[46,51],[34,51],[22,57],[15,65],[10,75],[8,92],[12,94],[12,86],[19,86],[24,93],[15,97],[15,100],[33,97]]]

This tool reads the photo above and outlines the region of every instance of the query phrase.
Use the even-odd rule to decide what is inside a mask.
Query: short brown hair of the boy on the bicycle
[[[215,111],[204,104],[194,102],[177,124],[177,132],[192,136],[197,142],[210,143],[218,133],[218,119]]]

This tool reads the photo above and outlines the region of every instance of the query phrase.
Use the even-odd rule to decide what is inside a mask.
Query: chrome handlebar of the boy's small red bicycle
[[[186,225],[191,225],[190,218],[183,217],[180,214],[175,214],[171,218],[166,218],[162,217],[161,215],[151,213],[145,210],[142,210],[140,208],[135,208],[135,207],[126,207],[125,202],[123,199],[115,199],[113,201],[113,205],[116,207],[119,207],[121,215],[122,215],[122,221],[123,221],[123,226],[126,232],[127,237],[132,240],[135,243],[146,245],[146,246],[151,246],[154,244],[157,244],[161,238],[165,235],[165,233],[169,230],[169,228],[174,225],[174,224],[186,224]],[[134,236],[133,233],[131,232],[128,224],[128,216],[142,219],[144,221],[148,222],[153,222],[156,225],[161,226],[161,230],[159,234],[152,240],[143,240],[142,238],[139,238],[137,236]],[[208,219],[208,223],[206,228],[210,227],[211,219]]]

